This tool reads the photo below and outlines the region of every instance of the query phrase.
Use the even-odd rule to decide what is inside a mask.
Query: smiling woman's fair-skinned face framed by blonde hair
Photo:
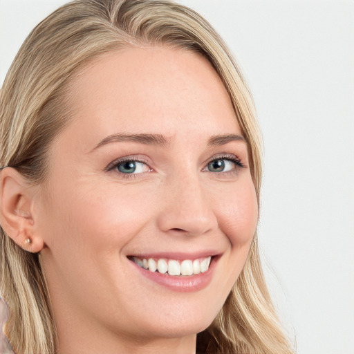
[[[37,207],[62,346],[102,339],[108,353],[118,338],[204,330],[257,225],[248,148],[220,78],[196,53],[128,48],[86,68],[71,101]]]

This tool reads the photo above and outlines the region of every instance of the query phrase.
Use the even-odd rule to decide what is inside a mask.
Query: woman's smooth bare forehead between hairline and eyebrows
[[[223,82],[205,57],[168,47],[124,48],[90,64],[71,85],[77,124],[109,135],[176,128],[241,133]],[[112,131],[113,130],[113,131]]]

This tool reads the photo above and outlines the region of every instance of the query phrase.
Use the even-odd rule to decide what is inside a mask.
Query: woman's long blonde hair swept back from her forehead
[[[194,50],[209,59],[248,142],[259,201],[261,134],[245,80],[207,21],[167,0],[73,1],[32,30],[0,95],[1,166],[15,167],[32,183],[44,181],[50,142],[70,116],[66,90],[75,73],[104,53],[142,45]],[[0,294],[10,306],[6,334],[17,353],[53,354],[57,337],[39,255],[22,250],[2,228],[0,242]],[[197,353],[293,353],[265,286],[257,234],[221,312],[198,334]]]

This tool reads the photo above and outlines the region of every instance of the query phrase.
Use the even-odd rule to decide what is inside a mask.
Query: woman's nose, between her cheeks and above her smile
[[[218,221],[205,186],[198,176],[180,176],[163,189],[158,227],[170,234],[196,236],[215,230]]]

